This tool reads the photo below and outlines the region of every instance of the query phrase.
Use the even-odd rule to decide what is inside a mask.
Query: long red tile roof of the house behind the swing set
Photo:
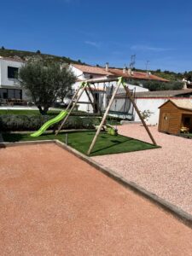
[[[105,67],[93,67],[88,65],[79,65],[79,64],[73,64],[73,67],[78,68],[83,73],[92,73],[92,74],[98,74],[98,75],[108,75],[112,77],[124,77],[129,79],[141,79],[141,80],[158,80],[161,82],[168,82],[166,79],[162,79],[158,76],[155,76],[153,74],[143,73],[143,72],[137,72],[132,71],[131,74],[125,71],[123,72],[123,69],[120,68],[108,68],[108,71],[106,71]]]

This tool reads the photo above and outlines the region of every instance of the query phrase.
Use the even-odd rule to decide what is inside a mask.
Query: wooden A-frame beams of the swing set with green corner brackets
[[[121,84],[123,85],[123,88],[125,89],[126,96],[130,99],[130,101],[131,101],[133,107],[135,108],[139,118],[141,119],[145,130],[148,132],[148,136],[150,137],[152,143],[156,146],[157,143],[154,141],[154,137],[152,136],[151,132],[149,131],[148,126],[146,125],[146,123],[145,123],[145,121],[143,119],[142,114],[138,110],[137,104],[134,101],[134,98],[131,96],[131,91],[129,90],[128,86],[126,86],[124,78],[123,77],[119,77],[118,79],[110,79],[110,80],[108,79],[108,81],[110,81],[110,82],[117,82],[117,85],[116,85],[115,89],[113,90],[113,95],[111,96],[111,98],[110,98],[110,100],[108,102],[108,107],[106,108],[105,113],[102,116],[102,121],[101,121],[100,125],[98,126],[98,129],[96,130],[96,135],[95,135],[95,137],[93,138],[93,140],[92,140],[92,142],[90,144],[90,148],[89,148],[87,154],[89,155],[91,153],[92,149],[94,148],[94,146],[96,144],[96,139],[98,138],[98,136],[100,134],[100,131],[102,131],[102,127],[105,124],[107,116],[108,116],[108,112],[109,112],[109,110],[110,110],[110,108],[111,108],[111,106],[113,104],[114,97],[116,96],[116,94],[117,94]],[[93,79],[91,79],[91,83],[94,83],[94,82],[98,82],[98,80],[94,81]],[[99,82],[101,82],[101,80]],[[73,109],[75,108],[75,106],[79,102],[79,98],[82,96],[84,91],[85,91],[86,95],[88,96],[88,99],[89,99],[90,104],[92,105],[93,109],[95,108],[96,101],[95,101],[95,103],[92,102],[92,100],[90,98],[90,95],[88,93],[88,90],[91,91],[89,80],[82,82],[80,84],[80,86],[79,86],[79,89],[73,95],[72,101],[69,103],[69,105],[67,106],[67,109],[66,109],[66,110],[68,110],[70,108],[70,110],[68,111],[67,116],[65,117],[65,119],[63,119],[63,121],[61,122],[61,125],[59,126],[59,129],[58,129],[58,131],[56,131],[55,135],[57,135],[61,131],[61,128],[67,122],[67,119],[69,118],[70,114],[73,112]],[[92,94],[92,95],[94,97],[94,94]],[[98,110],[101,113],[101,109],[98,108]]]

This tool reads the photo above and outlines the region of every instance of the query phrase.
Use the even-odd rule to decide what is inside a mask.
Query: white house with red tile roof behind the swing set
[[[148,91],[148,89],[143,88],[143,85],[134,85],[134,81],[142,83],[142,81],[146,80],[158,80],[161,82],[167,82],[166,79],[161,79],[160,77],[154,76],[151,73],[142,73],[142,72],[135,72],[131,71],[131,69],[120,69],[120,68],[111,68],[108,67],[108,63],[106,67],[93,67],[88,65],[79,65],[73,64],[71,65],[71,69],[73,73],[77,76],[78,81],[74,84],[74,89],[77,90],[79,88],[79,84],[89,79],[91,85],[92,92],[90,93],[90,98],[93,100],[92,93],[94,93],[96,102],[100,106],[101,109],[106,108],[108,104],[108,90],[116,84],[111,80],[115,80],[118,77],[124,77],[126,84],[129,86],[129,89],[132,92],[139,92],[139,91]],[[92,81],[92,82],[91,82]],[[96,82],[95,82],[96,81]],[[124,90],[120,89],[119,94],[123,93]],[[84,92],[83,95],[79,99],[79,110],[93,113],[93,108],[91,106],[88,96]],[[123,117],[122,109],[128,109],[129,102],[125,102],[124,100],[115,100],[112,105],[113,113],[119,113],[119,117]],[[127,112],[125,118],[133,119],[133,109],[130,106],[130,111]]]

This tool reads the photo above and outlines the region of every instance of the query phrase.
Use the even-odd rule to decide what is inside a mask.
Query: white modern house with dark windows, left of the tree
[[[0,100],[26,100],[25,92],[20,88],[17,76],[25,63],[8,57],[0,56]]]

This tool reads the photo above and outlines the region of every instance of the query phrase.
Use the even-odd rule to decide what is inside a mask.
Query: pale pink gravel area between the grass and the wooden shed
[[[192,213],[192,140],[160,133],[155,126],[149,129],[162,148],[93,159]],[[150,142],[142,125],[119,126],[119,133]]]

